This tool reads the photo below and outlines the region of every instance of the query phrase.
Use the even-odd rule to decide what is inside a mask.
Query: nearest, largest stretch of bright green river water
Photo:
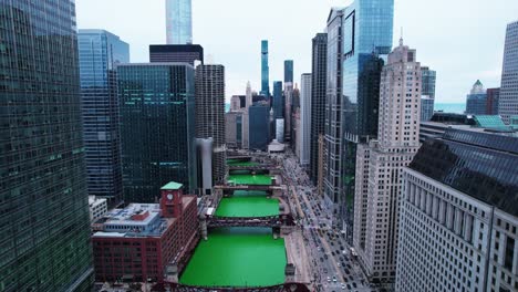
[[[284,282],[284,239],[271,228],[219,228],[201,240],[179,278],[200,286],[269,286]]]

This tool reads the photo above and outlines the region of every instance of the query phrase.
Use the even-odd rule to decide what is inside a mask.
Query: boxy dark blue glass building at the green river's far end
[[[268,105],[255,104],[248,108],[250,149],[267,150],[270,142],[269,112]]]

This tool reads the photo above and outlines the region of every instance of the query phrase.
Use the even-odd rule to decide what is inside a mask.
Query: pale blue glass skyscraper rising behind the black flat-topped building
[[[166,0],[167,44],[193,43],[193,11],[190,0]]]

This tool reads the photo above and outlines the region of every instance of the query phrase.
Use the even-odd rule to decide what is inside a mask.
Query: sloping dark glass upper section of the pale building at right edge
[[[427,139],[410,168],[518,216],[518,138],[448,129]]]

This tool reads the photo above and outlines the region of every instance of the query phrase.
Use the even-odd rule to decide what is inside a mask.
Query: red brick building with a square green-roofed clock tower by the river
[[[196,196],[160,189],[159,204],[131,204],[99,219],[92,236],[95,280],[163,282],[180,271],[198,240]]]

